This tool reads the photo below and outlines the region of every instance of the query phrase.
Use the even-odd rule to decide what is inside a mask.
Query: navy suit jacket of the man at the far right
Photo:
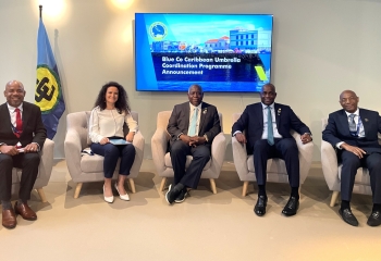
[[[378,141],[378,133],[381,133],[381,117],[379,113],[359,109],[359,114],[364,125],[365,138],[359,139],[351,135],[348,116],[344,110],[339,110],[329,115],[328,125],[323,130],[323,140],[330,142],[334,148],[336,148],[336,144],[344,141],[370,153],[381,153],[381,146]]]

